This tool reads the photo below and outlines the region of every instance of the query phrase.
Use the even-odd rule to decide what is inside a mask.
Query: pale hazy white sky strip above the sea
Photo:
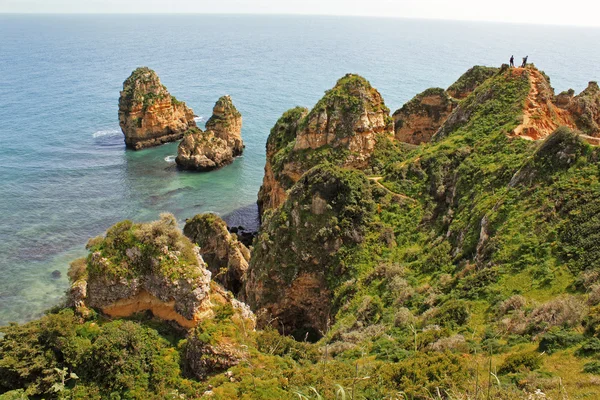
[[[0,13],[238,13],[600,26],[598,0],[0,0]]]

